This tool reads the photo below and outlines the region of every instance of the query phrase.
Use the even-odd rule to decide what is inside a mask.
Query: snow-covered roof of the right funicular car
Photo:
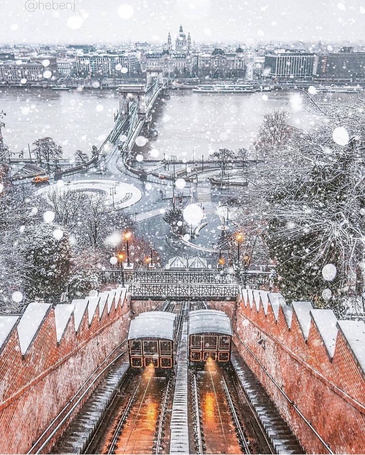
[[[195,310],[189,312],[189,334],[222,333],[233,335],[230,318],[222,311]]]

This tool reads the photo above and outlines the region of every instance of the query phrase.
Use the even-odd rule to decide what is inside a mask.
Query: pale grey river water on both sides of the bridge
[[[298,94],[255,92],[246,94],[203,94],[171,91],[170,99],[159,100],[153,113],[158,137],[149,139],[138,153],[162,158],[207,157],[225,147],[247,147],[254,140],[263,116],[275,109],[289,112],[290,122],[310,129],[316,122]],[[294,96],[294,102],[293,102]],[[322,95],[323,96],[323,95]],[[351,95],[342,95],[348,99]],[[337,99],[339,95],[333,95]],[[77,149],[90,154],[113,128],[118,110],[115,90],[0,89],[0,111],[6,112],[3,137],[12,152],[28,150],[28,143],[51,136],[62,145],[64,157],[72,158]],[[27,156],[27,153],[25,154]]]

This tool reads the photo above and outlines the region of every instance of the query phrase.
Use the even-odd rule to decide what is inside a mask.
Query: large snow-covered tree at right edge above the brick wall
[[[344,297],[364,291],[363,104],[309,100],[325,122],[293,129],[285,147],[271,147],[250,189],[250,216],[266,225],[262,238],[283,294],[339,316]]]

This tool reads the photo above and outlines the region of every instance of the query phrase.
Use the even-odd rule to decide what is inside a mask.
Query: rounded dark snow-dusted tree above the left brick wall
[[[71,267],[68,236],[55,235],[53,224],[25,227],[19,241],[19,256],[26,262],[24,289],[27,299],[57,302],[66,290]]]

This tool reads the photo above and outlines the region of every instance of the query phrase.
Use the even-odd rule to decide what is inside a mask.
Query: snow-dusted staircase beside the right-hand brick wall
[[[304,454],[298,439],[237,350],[232,350],[231,362],[243,392],[260,420],[275,453]]]

